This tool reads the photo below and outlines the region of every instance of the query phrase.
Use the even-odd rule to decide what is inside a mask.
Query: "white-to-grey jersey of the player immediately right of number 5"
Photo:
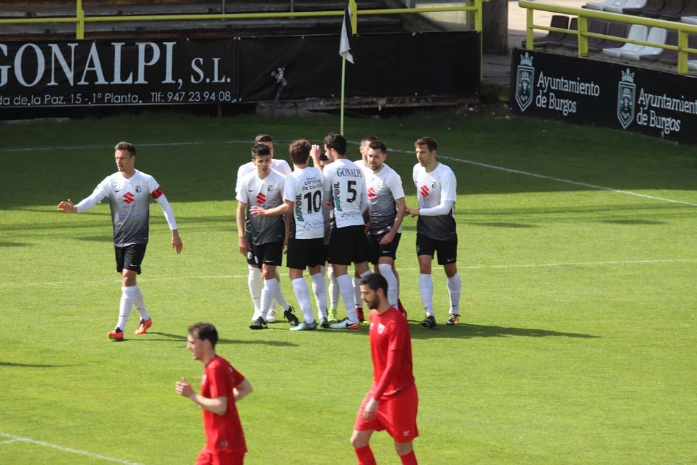
[[[404,199],[404,188],[397,171],[383,163],[377,173],[369,170],[365,178],[368,196],[368,217],[370,234],[377,236],[392,229],[397,216],[396,199]],[[397,232],[401,232],[401,224]]]

